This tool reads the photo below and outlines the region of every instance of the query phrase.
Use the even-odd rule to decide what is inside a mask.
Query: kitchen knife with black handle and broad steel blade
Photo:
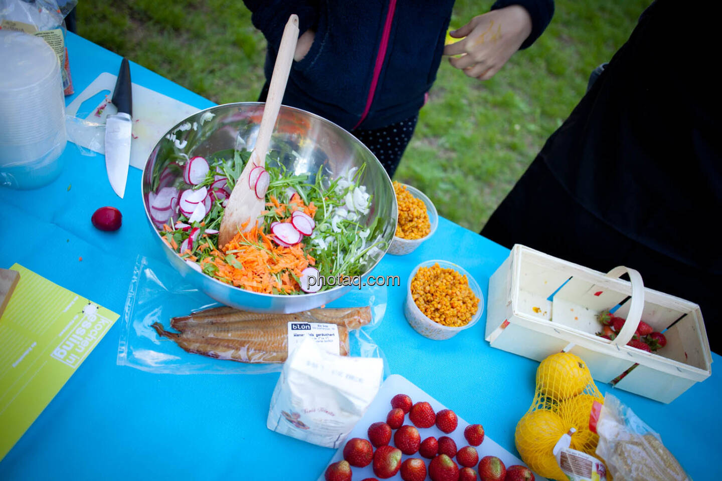
[[[122,199],[126,192],[128,165],[131,160],[131,131],[133,128],[133,92],[131,70],[127,58],[121,62],[116,88],[110,100],[118,107],[116,115],[105,119],[105,169],[108,180],[116,194]]]

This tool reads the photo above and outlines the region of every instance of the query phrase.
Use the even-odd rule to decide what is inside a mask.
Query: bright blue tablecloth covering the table
[[[68,45],[76,92],[97,74],[118,70],[115,53],[73,34]],[[142,66],[131,70],[136,84],[195,107],[213,105]],[[121,200],[110,188],[102,155],[83,156],[69,143],[63,156],[64,172],[51,185],[0,188],[0,267],[19,262],[121,313],[136,255],[165,259],[145,219],[140,171],[130,169]],[[123,227],[111,234],[90,223],[93,211],[106,205],[123,213]],[[372,335],[392,373],[469,422],[482,423],[487,436],[516,452],[514,429],[534,396],[538,363],[491,348],[484,340],[486,312],[476,326],[438,342],[414,332],[401,311],[406,278],[419,262],[457,262],[486,298],[488,279],[507,255],[505,248],[440,219],[422,247],[411,255],[387,255],[375,269],[376,275],[401,276],[402,286],[388,288],[386,316]],[[313,480],[331,458],[331,449],[266,429],[278,374],[175,376],[116,366],[120,327],[117,322],[0,462],[0,479]],[[713,358],[722,366],[719,356]],[[599,389],[612,390],[606,384]],[[692,477],[713,478],[709,469],[722,452],[720,374],[669,405],[613,392],[661,433]]]

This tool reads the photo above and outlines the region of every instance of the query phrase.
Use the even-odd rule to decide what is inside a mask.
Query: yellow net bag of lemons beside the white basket
[[[541,361],[534,402],[516,425],[514,436],[521,459],[532,471],[550,480],[569,480],[554,452],[555,447],[557,451],[560,445],[566,447],[565,442],[570,449],[599,459],[595,454],[599,436],[589,430],[594,401],[604,403],[604,396],[579,356],[562,352]]]

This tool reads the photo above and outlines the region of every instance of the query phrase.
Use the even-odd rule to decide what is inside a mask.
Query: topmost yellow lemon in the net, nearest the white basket
[[[552,354],[536,369],[536,389],[555,400],[574,397],[593,383],[586,363],[572,353]]]

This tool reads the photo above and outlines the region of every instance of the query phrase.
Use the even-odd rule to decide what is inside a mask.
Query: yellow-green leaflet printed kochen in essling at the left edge
[[[118,314],[15,264],[0,317],[0,459],[38,418]]]

